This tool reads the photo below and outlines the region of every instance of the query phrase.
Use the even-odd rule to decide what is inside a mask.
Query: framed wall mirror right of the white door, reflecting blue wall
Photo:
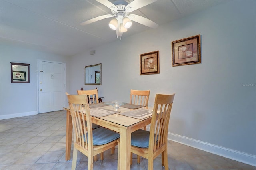
[[[85,66],[84,85],[101,85],[102,64]]]

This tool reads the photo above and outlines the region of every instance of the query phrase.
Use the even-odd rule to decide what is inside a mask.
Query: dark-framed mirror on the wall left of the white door
[[[11,62],[11,83],[29,83],[29,65]]]

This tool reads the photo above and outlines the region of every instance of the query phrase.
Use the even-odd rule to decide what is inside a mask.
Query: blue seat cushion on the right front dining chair
[[[132,132],[131,145],[140,148],[148,148],[149,146],[149,131],[146,130],[136,130]],[[156,138],[158,140],[158,136]]]

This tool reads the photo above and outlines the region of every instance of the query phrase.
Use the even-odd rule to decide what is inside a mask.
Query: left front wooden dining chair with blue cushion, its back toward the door
[[[92,121],[87,95],[69,95],[68,104],[70,107],[73,130],[74,149],[72,159],[72,170],[76,169],[78,150],[88,157],[88,170],[93,169],[93,157],[97,154],[103,156],[103,152],[115,147],[120,134],[107,128],[92,130]],[[82,109],[81,109],[82,108]],[[87,121],[87,128],[83,122]]]

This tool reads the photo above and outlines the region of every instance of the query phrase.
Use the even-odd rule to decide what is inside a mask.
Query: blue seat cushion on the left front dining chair
[[[86,134],[88,136],[88,134]],[[120,138],[120,134],[104,127],[92,130],[93,145],[102,145]],[[85,140],[85,137],[84,137]]]

